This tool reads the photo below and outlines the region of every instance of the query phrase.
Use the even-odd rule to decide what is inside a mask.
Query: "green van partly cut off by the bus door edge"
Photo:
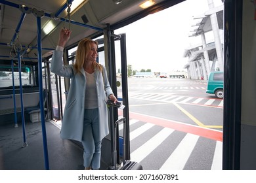
[[[217,98],[223,99],[223,81],[223,72],[217,71],[210,73],[206,93],[215,94]]]

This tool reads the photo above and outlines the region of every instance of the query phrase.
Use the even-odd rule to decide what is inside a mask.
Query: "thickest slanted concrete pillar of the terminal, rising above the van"
[[[209,8],[214,8],[213,0],[208,0]],[[220,71],[224,71],[224,62],[223,62],[223,48],[221,46],[221,38],[219,35],[219,24],[217,20],[216,13],[211,14],[211,27],[213,29],[213,36],[216,48],[216,54],[219,61],[219,69]]]

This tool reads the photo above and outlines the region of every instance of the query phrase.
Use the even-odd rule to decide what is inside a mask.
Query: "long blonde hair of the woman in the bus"
[[[83,68],[83,65],[86,62],[87,55],[91,50],[91,42],[95,43],[98,46],[98,42],[91,40],[90,38],[82,39],[77,46],[77,51],[75,54],[75,63],[74,68],[77,73],[81,73],[80,69]],[[102,71],[102,65],[97,63],[96,61],[93,62],[92,68],[98,69]]]

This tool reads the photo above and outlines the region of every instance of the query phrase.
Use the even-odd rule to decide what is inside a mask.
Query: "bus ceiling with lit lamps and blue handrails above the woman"
[[[0,0],[0,60],[14,58],[16,45],[23,59],[37,61],[37,17],[41,19],[42,55],[47,58],[62,27],[72,29],[67,44],[71,46],[84,37],[102,34],[107,24],[118,29],[182,1],[149,0],[152,6],[141,8],[146,0]]]

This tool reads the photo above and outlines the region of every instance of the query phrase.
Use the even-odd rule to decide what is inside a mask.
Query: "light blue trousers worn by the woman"
[[[98,108],[85,108],[83,118],[83,165],[100,168],[101,140],[99,138]]]

